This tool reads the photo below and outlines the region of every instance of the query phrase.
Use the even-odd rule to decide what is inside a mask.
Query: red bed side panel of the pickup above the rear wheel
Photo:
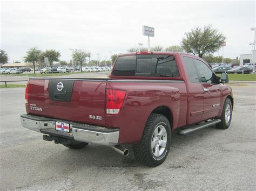
[[[150,81],[150,80],[149,80]],[[106,115],[107,127],[120,129],[119,143],[139,142],[151,112],[160,106],[172,112],[172,130],[186,124],[187,94],[185,83],[108,82],[107,88],[126,91],[125,101],[117,116]]]

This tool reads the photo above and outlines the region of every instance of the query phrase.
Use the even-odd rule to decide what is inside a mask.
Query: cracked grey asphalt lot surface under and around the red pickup
[[[198,190],[256,188],[256,83],[233,84],[229,129],[173,135],[165,162],[139,165],[107,146],[69,150],[24,129],[24,88],[0,89],[1,190]]]

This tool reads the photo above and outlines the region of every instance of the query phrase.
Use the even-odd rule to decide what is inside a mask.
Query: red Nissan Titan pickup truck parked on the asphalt
[[[180,135],[216,124],[230,126],[232,89],[227,74],[186,53],[119,55],[107,79],[30,78],[24,128],[69,148],[109,145],[123,155],[132,144],[136,159],[160,165],[171,133]]]

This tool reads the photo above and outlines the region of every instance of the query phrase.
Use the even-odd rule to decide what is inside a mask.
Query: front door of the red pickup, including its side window
[[[198,70],[199,82],[204,91],[204,113],[202,121],[218,115],[220,107],[221,89],[217,84],[216,75],[210,67],[201,60],[194,59],[194,63]]]

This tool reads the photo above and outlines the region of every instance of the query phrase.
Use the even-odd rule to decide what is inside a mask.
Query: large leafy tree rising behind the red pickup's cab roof
[[[195,27],[191,32],[185,33],[181,41],[181,47],[200,58],[205,54],[217,52],[221,45],[225,43],[226,37],[217,29],[212,29],[211,25],[204,26],[204,29]]]

